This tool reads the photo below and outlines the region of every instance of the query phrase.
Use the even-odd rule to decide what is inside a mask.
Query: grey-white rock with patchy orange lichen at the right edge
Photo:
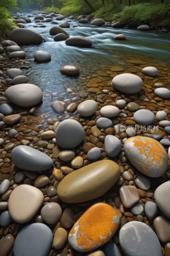
[[[168,155],[157,140],[148,137],[131,137],[124,143],[124,152],[130,162],[149,177],[161,177],[167,170]]]

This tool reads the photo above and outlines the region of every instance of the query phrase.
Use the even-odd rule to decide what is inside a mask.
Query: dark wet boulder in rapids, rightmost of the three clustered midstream
[[[65,43],[70,46],[92,46],[92,40],[84,36],[72,36]]]

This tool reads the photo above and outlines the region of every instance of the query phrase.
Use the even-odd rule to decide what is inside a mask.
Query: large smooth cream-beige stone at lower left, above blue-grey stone
[[[42,192],[30,185],[16,187],[8,201],[11,218],[18,223],[25,223],[33,218],[44,201]]]

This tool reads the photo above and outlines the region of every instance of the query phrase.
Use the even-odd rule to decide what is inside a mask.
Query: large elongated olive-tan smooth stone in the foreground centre
[[[57,195],[70,204],[92,200],[104,195],[119,176],[118,164],[111,160],[98,161],[65,176],[57,187]]]

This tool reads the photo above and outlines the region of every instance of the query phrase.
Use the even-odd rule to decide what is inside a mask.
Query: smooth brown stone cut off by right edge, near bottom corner
[[[170,241],[170,220],[165,217],[158,216],[153,220],[153,226],[159,240],[162,243],[168,243]]]

